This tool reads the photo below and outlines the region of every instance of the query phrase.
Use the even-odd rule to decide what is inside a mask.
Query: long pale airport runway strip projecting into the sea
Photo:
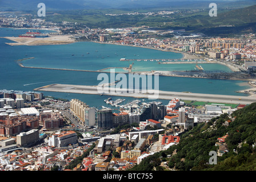
[[[98,86],[88,85],[66,85],[66,84],[51,84],[36,88],[38,91],[49,92],[66,92],[66,93],[81,93],[81,94],[104,94],[109,96],[149,98],[172,100],[179,98],[181,100],[194,100],[203,102],[219,102],[229,104],[251,104],[256,102],[255,96],[230,96],[219,94],[201,94],[189,92],[166,92],[162,90],[133,90],[133,89],[118,89],[118,88],[98,88]],[[129,93],[130,92],[130,93]]]

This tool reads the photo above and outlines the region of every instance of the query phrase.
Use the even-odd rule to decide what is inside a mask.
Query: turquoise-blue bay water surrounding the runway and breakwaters
[[[18,36],[26,30],[0,28],[0,37]],[[99,44],[93,42],[77,42],[67,45],[50,46],[9,46],[7,39],[0,39],[0,89],[32,91],[48,84],[98,85],[99,73],[61,71],[49,69],[21,68],[15,60],[26,57],[35,59],[23,61],[23,65],[42,68],[69,68],[96,71],[109,67],[129,67],[126,59],[181,59],[181,53],[163,52],[155,49]],[[157,64],[151,61],[133,61],[133,71],[151,70],[194,70],[194,64]],[[206,71],[231,72],[224,65],[200,64]],[[122,71],[118,68],[117,71]],[[194,92],[209,94],[244,95],[237,90],[250,88],[244,81],[214,80],[205,78],[159,77],[159,90],[175,92]],[[43,92],[45,95],[60,98],[78,98],[90,106],[102,106],[108,96]],[[115,97],[113,97],[115,98]],[[126,98],[126,101],[135,98]],[[151,101],[151,100],[150,100]],[[162,100],[163,104],[168,101]]]

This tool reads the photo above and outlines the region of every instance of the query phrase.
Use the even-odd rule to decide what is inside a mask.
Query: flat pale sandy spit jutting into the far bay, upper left
[[[6,43],[10,46],[45,46],[45,45],[58,45],[70,44],[75,40],[70,38],[70,35],[49,35],[46,38],[23,38],[23,37],[2,37],[5,39],[13,40],[15,43]]]

